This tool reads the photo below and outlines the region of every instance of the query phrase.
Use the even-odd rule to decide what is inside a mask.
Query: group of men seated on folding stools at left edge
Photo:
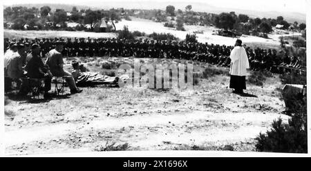
[[[55,42],[55,48],[48,52],[46,63],[43,63],[40,57],[41,48],[37,43],[10,43],[4,54],[5,88],[10,88],[12,81],[15,81],[19,94],[23,95],[28,93],[23,78],[44,79],[44,98],[48,98],[52,77],[66,76],[70,93],[82,92],[77,88],[73,76],[63,68],[62,50],[64,50],[64,42]]]

